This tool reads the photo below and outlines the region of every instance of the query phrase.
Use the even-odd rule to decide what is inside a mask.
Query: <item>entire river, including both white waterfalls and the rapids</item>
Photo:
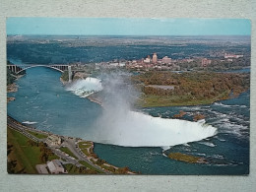
[[[8,103],[8,115],[40,130],[94,141],[100,159],[145,174],[248,172],[249,92],[208,105],[140,111],[117,105],[106,113],[107,107],[85,97],[102,89],[97,81],[96,89],[89,80],[66,88],[60,75],[43,67],[27,70],[17,81],[19,91],[8,94],[16,97]],[[171,119],[180,110],[187,112],[184,120]],[[194,110],[206,119],[192,122]],[[170,160],[166,158],[169,151],[203,157],[208,163]]]

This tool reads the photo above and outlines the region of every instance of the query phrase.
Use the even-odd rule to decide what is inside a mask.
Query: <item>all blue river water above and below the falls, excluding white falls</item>
[[[67,92],[59,81],[60,73],[49,68],[32,68],[17,84],[19,92],[9,94],[8,114],[17,120],[37,122],[32,126],[56,134],[90,140],[91,125],[101,107],[87,98]],[[218,134],[200,142],[161,148],[127,148],[96,144],[100,159],[144,174],[247,174],[249,172],[249,92],[211,105],[151,107],[144,112],[171,118],[179,110],[192,120],[195,112],[206,116]],[[163,155],[180,152],[205,158],[208,164],[170,160]]]

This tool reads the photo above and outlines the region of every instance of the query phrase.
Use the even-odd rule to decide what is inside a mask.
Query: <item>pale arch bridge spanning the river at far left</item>
[[[38,64],[28,64],[28,65],[7,65],[7,68],[12,71],[15,74],[19,74],[22,71],[25,71],[27,69],[33,68],[33,67],[47,67],[51,69],[55,69],[61,73],[64,71],[69,72],[69,82],[72,81],[72,71],[70,65],[38,65]]]

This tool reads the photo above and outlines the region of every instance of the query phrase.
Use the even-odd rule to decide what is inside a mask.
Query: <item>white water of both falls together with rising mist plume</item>
[[[136,110],[133,105],[139,93],[126,73],[111,73],[100,79],[103,112],[96,117],[92,127],[95,142],[126,147],[164,147],[200,141],[217,134],[217,129],[205,124],[204,120],[166,119]],[[94,79],[96,90],[98,82]],[[72,88],[85,90],[89,86],[92,91],[92,85],[89,86],[87,79],[75,83]],[[74,93],[79,92],[74,90]]]

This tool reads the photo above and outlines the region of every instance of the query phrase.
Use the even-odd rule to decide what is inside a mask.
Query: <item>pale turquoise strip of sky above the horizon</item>
[[[7,34],[250,35],[245,19],[7,18]]]

